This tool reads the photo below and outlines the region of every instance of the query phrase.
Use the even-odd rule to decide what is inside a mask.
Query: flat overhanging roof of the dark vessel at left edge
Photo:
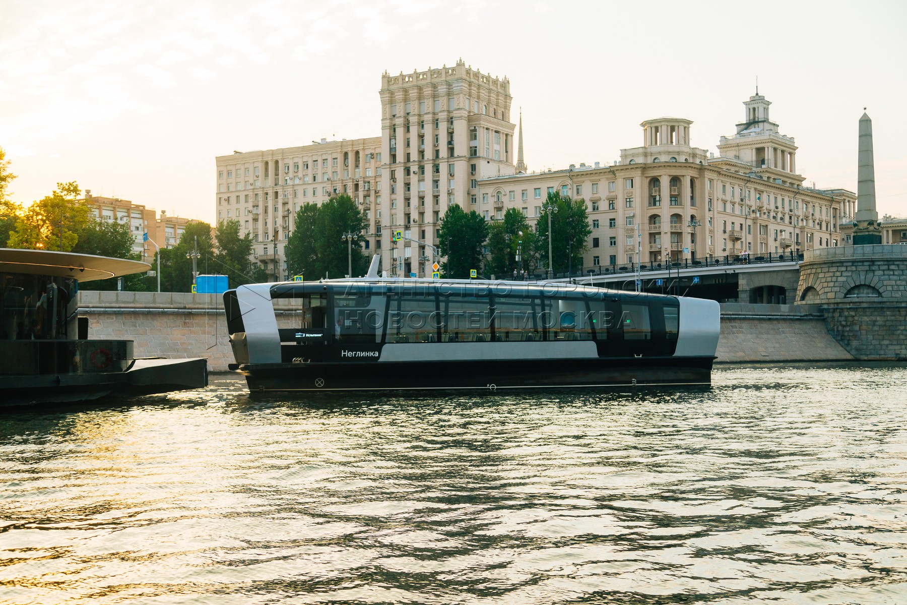
[[[51,275],[78,281],[119,278],[151,268],[139,260],[113,259],[92,254],[0,248],[0,273]]]

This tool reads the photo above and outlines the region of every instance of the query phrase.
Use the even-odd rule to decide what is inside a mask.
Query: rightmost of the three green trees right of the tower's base
[[[566,273],[582,266],[582,253],[586,251],[586,239],[592,229],[586,213],[586,200],[571,200],[561,196],[560,191],[548,194],[546,206],[557,205],[557,212],[551,215],[551,256],[555,273]],[[535,249],[541,259],[541,267],[548,268],[548,213],[543,210],[535,222]],[[572,245],[571,245],[572,244]]]

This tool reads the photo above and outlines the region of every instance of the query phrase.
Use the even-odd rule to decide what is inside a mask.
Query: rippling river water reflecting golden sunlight
[[[2,603],[904,603],[907,372],[0,415]]]

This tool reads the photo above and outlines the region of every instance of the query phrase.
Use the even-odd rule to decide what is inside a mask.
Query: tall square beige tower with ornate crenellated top
[[[515,171],[510,81],[461,59],[424,72],[385,72],[379,94],[382,174],[375,218],[380,212],[382,270],[430,276],[425,269],[437,259],[431,246],[446,254],[437,229],[447,208],[480,210],[477,181]],[[503,206],[503,200],[495,203]],[[392,241],[397,231],[402,241]]]

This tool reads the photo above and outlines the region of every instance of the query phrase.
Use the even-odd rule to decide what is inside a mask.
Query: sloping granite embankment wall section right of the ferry
[[[721,305],[718,362],[853,359],[828,333],[818,305]]]

